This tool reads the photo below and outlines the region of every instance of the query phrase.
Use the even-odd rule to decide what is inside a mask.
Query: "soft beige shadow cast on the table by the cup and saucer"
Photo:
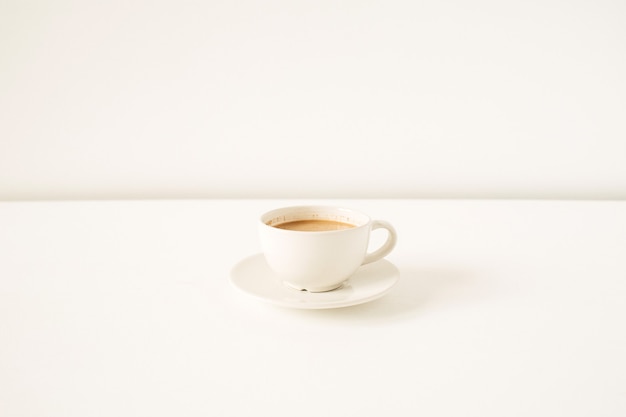
[[[484,278],[462,269],[400,269],[398,284],[378,300],[294,314],[359,322],[398,320],[477,301],[485,285]]]

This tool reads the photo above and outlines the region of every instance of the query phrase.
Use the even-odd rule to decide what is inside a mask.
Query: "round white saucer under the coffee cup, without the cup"
[[[304,309],[366,303],[385,295],[399,278],[398,268],[383,259],[362,266],[336,290],[318,293],[298,291],[287,287],[274,276],[263,254],[243,259],[230,273],[230,282],[235,288],[254,298],[282,307]]]

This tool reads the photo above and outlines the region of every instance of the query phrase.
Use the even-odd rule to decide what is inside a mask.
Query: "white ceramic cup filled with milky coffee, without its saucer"
[[[326,229],[328,222],[349,227],[322,231],[285,228],[293,228],[293,222],[302,221],[314,222],[314,226],[319,224],[321,229]],[[387,240],[368,253],[370,231],[379,228],[387,230]],[[361,265],[389,254],[397,240],[396,231],[388,222],[332,206],[283,207],[269,211],[260,218],[259,236],[265,260],[278,279],[297,290],[310,292],[340,287]]]

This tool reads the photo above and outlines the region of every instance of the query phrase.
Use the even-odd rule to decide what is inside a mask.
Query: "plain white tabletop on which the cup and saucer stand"
[[[321,202],[396,226],[383,298],[230,285],[319,200],[0,203],[0,415],[626,415],[626,202]]]

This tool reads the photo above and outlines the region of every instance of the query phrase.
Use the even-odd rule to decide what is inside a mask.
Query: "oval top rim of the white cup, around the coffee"
[[[281,224],[286,221],[298,220],[299,219],[298,216],[292,217],[293,220],[285,220],[285,216],[287,216],[287,213],[293,213],[293,212],[298,212],[298,211],[299,212],[307,212],[307,211],[308,212],[310,211],[324,212],[326,211],[326,212],[334,212],[334,213],[344,213],[345,215],[348,215],[347,216],[348,219],[342,218],[342,220],[338,220],[338,221],[342,221],[344,223],[350,223],[354,225],[354,227],[351,227],[349,229],[342,229],[342,230],[303,231],[303,230],[280,229],[278,227],[274,227],[271,224],[271,220],[273,218],[276,218],[277,216],[283,217],[283,221],[276,222],[275,224]],[[349,215],[351,215],[351,217],[349,217]],[[354,218],[355,221],[350,221],[349,220],[350,218]],[[302,218],[302,220],[304,219],[307,219],[307,217]],[[368,216],[367,214],[363,213],[360,210],[355,210],[355,209],[344,207],[344,206],[310,204],[310,205],[284,206],[284,207],[278,207],[278,208],[266,211],[259,217],[259,222],[261,223],[261,225],[265,227],[268,227],[272,230],[284,232],[284,233],[299,233],[299,234],[311,233],[311,234],[319,235],[319,234],[327,234],[327,233],[349,232],[351,230],[360,229],[360,228],[366,227],[371,222],[371,218],[370,216]]]

